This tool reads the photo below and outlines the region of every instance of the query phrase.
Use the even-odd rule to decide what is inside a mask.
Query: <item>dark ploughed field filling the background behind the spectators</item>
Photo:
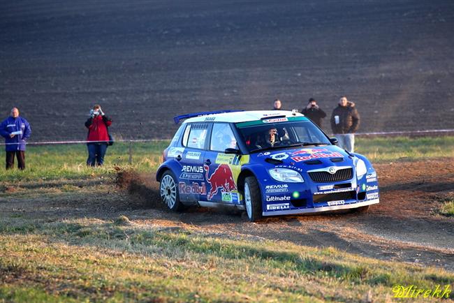
[[[446,0],[1,1],[0,117],[83,139],[99,102],[117,138],[170,138],[175,114],[346,94],[360,131],[454,128],[453,28]]]

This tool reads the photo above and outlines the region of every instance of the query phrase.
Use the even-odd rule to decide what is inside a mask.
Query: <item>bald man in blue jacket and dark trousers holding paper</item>
[[[25,140],[30,137],[29,122],[19,117],[19,110],[13,108],[10,117],[0,124],[0,135],[6,142],[6,169],[14,167],[14,156],[17,157],[17,168],[25,168]]]

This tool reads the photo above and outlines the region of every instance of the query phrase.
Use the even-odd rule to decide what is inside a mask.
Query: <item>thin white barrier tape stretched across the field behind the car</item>
[[[388,131],[375,133],[355,133],[355,135],[417,135],[423,133],[454,133],[454,129],[433,129],[430,131]],[[115,142],[162,142],[170,139],[142,139],[142,140],[115,140]],[[57,144],[78,144],[78,143],[101,143],[107,141],[45,141],[25,142],[27,145],[57,145]],[[0,143],[0,145],[18,145],[20,143]]]

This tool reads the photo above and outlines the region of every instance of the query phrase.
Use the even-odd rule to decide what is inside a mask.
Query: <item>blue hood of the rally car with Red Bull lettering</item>
[[[310,169],[307,165],[311,165],[314,168],[332,165],[353,165],[351,155],[335,145],[277,149],[259,152],[255,156],[256,161],[266,161],[275,165],[292,165],[301,168],[304,166],[306,169]]]

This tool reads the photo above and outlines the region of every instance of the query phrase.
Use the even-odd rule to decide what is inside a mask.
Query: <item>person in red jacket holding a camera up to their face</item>
[[[90,110],[90,117],[85,122],[85,126],[88,128],[87,141],[91,141],[87,143],[87,165],[94,166],[95,163],[103,165],[109,142],[108,127],[110,124],[112,124],[112,119],[104,114],[100,105],[94,105]]]

